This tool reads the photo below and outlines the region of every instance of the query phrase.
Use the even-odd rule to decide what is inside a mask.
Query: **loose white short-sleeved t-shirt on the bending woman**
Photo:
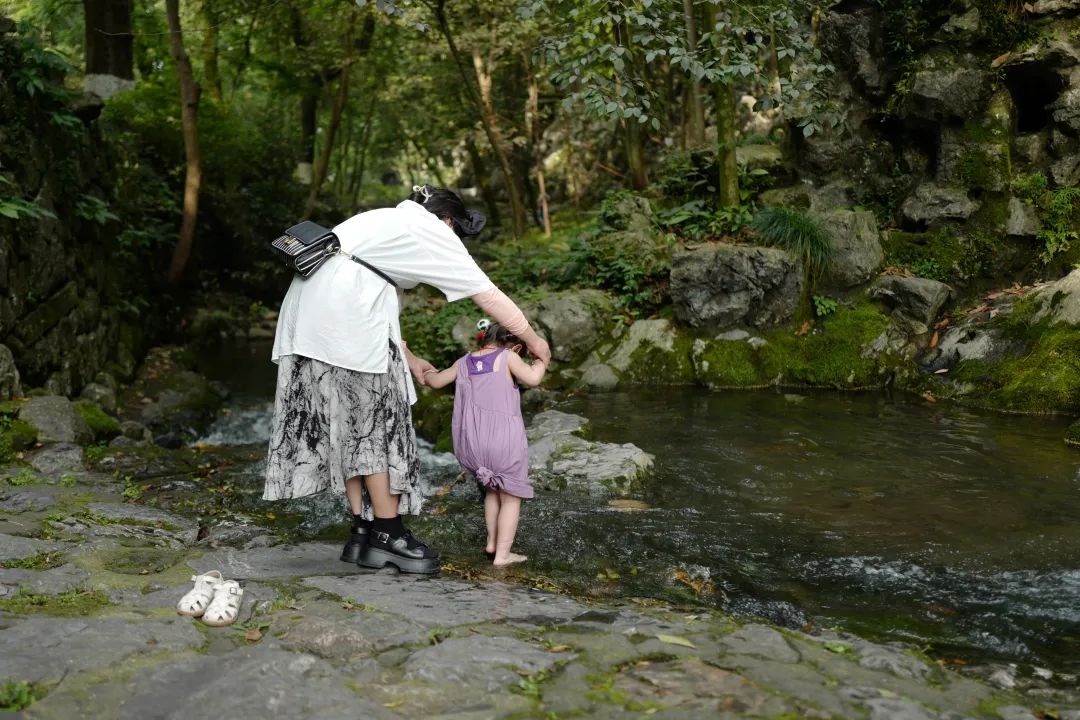
[[[334,233],[342,250],[402,288],[424,283],[453,302],[495,287],[454,231],[413,201],[354,215]],[[273,362],[295,354],[360,372],[389,371],[387,348],[402,341],[399,294],[347,257],[330,258],[310,277],[297,275],[281,304]],[[414,403],[416,390],[405,375]]]

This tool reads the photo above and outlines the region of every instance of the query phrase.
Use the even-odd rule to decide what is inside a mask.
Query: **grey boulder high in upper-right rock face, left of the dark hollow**
[[[929,122],[967,120],[983,107],[989,90],[990,73],[978,58],[927,53],[917,62],[904,114]]]

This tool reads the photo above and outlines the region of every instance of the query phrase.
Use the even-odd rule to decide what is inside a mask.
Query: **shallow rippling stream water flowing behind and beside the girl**
[[[206,368],[235,407],[202,443],[265,443],[273,367],[240,348]],[[244,353],[251,353],[251,362]],[[269,367],[268,367],[269,366]],[[1066,422],[878,394],[635,390],[575,397],[595,439],[634,443],[657,477],[626,507],[541,493],[524,511],[530,570],[590,592],[711,603],[838,626],[940,657],[1080,671],[1080,452]],[[423,451],[430,487],[456,476]],[[261,468],[238,473],[254,494]],[[483,561],[468,484],[419,530]],[[476,495],[478,497],[478,495]],[[336,498],[292,510],[341,524]],[[312,518],[309,518],[311,520]]]

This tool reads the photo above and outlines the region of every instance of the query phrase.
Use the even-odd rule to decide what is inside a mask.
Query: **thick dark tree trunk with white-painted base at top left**
[[[132,0],[83,0],[85,89],[102,98],[135,86]]]

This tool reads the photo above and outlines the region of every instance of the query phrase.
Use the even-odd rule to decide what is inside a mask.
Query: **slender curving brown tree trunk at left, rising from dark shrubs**
[[[168,46],[176,63],[176,73],[180,79],[180,123],[184,128],[184,157],[187,173],[184,177],[184,216],[180,222],[180,240],[173,250],[168,266],[168,283],[175,284],[184,274],[191,256],[191,245],[195,234],[195,217],[199,213],[199,186],[202,184],[202,157],[199,153],[199,85],[191,72],[191,60],[184,49],[180,29],[180,0],[165,0],[165,16],[168,19]]]

